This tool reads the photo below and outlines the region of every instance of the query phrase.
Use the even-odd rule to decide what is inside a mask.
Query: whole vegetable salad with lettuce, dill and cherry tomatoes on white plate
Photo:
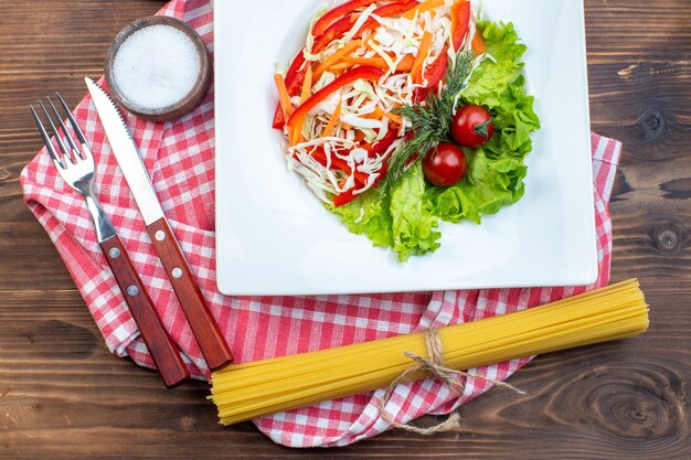
[[[375,246],[401,260],[434,252],[439,220],[479,224],[523,195],[540,127],[524,52],[512,24],[483,21],[466,0],[351,0],[321,11],[274,76],[273,126],[288,167]],[[463,113],[485,118],[464,116],[461,126]]]

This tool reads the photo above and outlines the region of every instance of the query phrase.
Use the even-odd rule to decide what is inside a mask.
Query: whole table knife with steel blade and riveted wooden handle
[[[180,300],[180,306],[196,338],[204,361],[211,371],[224,367],[233,361],[231,350],[204,302],[202,291],[192,277],[182,249],[166,220],[163,208],[120,110],[105,89],[91,78],[85,78],[85,81],[113,153],[135,196],[147,233]]]

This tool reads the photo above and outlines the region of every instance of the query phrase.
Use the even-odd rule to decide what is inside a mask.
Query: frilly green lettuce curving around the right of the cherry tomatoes
[[[482,148],[466,150],[466,179],[425,193],[432,213],[448,222],[467,218],[480,224],[482,215],[496,214],[523,197],[528,172],[523,160],[532,150],[531,132],[540,128],[534,98],[525,95],[525,79],[520,75],[525,46],[518,43],[513,25],[482,22],[478,26],[498,63],[483,61],[461,98],[465,104],[489,107],[495,136]]]

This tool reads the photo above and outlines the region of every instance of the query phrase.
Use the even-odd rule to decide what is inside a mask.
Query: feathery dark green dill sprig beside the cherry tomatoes
[[[445,85],[440,94],[429,93],[424,101],[405,105],[395,110],[411,121],[412,137],[392,154],[389,171],[380,185],[382,193],[396,183],[408,167],[425,158],[429,150],[440,142],[450,140],[454,107],[472,72],[474,57],[475,53],[470,51],[459,52],[456,55],[456,64],[449,65],[446,71]]]

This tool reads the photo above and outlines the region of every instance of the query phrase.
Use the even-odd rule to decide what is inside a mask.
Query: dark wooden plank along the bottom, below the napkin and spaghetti
[[[670,299],[672,290],[679,296]],[[528,396],[493,389],[461,408],[457,432],[433,439],[392,432],[333,457],[506,459],[530,448],[533,459],[681,458],[691,421],[683,404],[691,288],[667,281],[646,291],[651,304],[665,304],[653,308],[650,333],[541,356],[510,381]],[[75,291],[0,292],[0,457],[49,458],[65,447],[73,458],[298,454],[264,440],[251,424],[219,426],[205,383],[166,391],[153,372],[109,354]]]

